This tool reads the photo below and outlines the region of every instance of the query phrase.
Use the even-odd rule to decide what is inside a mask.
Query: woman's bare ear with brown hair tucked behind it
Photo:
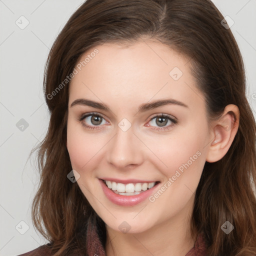
[[[218,120],[213,121],[211,128],[211,144],[206,154],[207,162],[220,160],[231,146],[239,126],[239,108],[229,104]]]

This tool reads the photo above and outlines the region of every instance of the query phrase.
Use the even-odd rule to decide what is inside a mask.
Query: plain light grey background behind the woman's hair
[[[38,185],[32,147],[47,130],[49,114],[42,93],[44,64],[61,28],[83,0],[0,0],[0,255],[13,256],[46,243],[35,232],[31,201]],[[256,109],[256,0],[213,0],[244,58],[247,97]],[[29,24],[20,29],[23,15]],[[256,116],[256,114],[255,114]],[[28,123],[21,131],[16,123]],[[24,221],[24,223],[20,223]],[[28,225],[28,230],[26,230]],[[16,228],[15,228],[16,227]]]

